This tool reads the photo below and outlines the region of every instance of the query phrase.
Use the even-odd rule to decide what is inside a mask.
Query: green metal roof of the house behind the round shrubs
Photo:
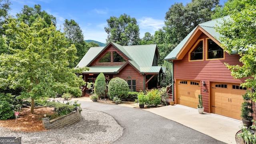
[[[105,47],[91,47],[78,63],[78,67],[89,66],[110,44],[117,50],[122,52],[128,59],[128,62],[134,66],[140,73],[158,73],[161,66],[152,66],[154,54],[157,52],[156,44],[137,45],[137,46],[121,46],[114,42],[110,42]],[[91,66],[90,70],[84,73],[117,73],[122,66]]]

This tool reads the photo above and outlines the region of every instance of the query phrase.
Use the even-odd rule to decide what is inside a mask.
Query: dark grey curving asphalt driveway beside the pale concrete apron
[[[81,108],[109,114],[124,128],[123,135],[114,144],[224,144],[182,124],[138,108],[98,102],[79,103]]]

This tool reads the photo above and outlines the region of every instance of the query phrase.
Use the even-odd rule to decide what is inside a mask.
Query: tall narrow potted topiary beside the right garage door
[[[241,106],[241,118],[244,126],[250,127],[252,126],[252,120],[253,120],[253,109],[252,109],[252,100],[249,96],[249,91],[246,91],[246,93],[243,95],[244,102]]]

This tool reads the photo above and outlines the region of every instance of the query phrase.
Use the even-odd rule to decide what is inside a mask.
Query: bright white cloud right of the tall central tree
[[[151,29],[153,31],[157,31],[164,26],[164,20],[156,20],[149,17],[143,17],[138,19],[138,24],[140,29]]]

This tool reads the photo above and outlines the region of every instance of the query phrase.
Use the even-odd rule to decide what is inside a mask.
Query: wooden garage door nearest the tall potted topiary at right
[[[241,120],[242,95],[246,88],[240,84],[212,82],[212,113]]]

